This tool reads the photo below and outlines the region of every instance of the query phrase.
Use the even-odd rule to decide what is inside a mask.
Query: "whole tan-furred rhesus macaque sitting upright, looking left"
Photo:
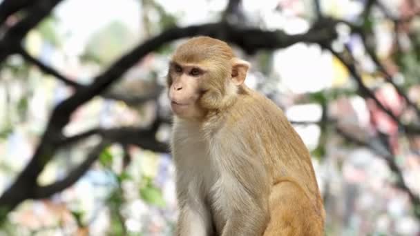
[[[211,37],[171,59],[176,235],[323,235],[308,150],[280,108],[245,86],[248,68]]]

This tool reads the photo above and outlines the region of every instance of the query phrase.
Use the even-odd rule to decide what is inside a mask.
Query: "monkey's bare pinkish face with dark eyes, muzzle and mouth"
[[[204,109],[200,108],[200,88],[206,71],[194,64],[172,62],[169,68],[169,99],[171,110],[184,119],[200,119]]]

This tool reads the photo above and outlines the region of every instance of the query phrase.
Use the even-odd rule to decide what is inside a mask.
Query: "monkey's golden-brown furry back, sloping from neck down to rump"
[[[260,144],[256,152],[263,153],[272,184],[288,181],[298,186],[323,224],[325,213],[309,152],[283,111],[267,97],[244,86],[229,113],[225,116],[227,123],[245,130],[242,135],[247,135],[245,139],[250,144]]]

